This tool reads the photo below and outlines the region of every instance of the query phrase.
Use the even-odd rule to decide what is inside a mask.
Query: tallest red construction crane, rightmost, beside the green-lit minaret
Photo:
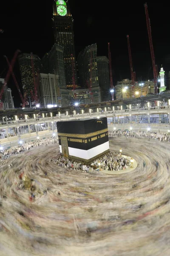
[[[154,50],[153,50],[152,33],[151,33],[149,13],[147,10],[147,3],[144,4],[144,9],[145,9],[145,15],[146,15],[147,32],[148,32],[148,36],[149,36],[150,52],[151,52],[151,57],[152,57],[155,94],[157,94],[158,93],[158,70],[157,70],[157,65],[155,63],[155,54],[154,54]]]

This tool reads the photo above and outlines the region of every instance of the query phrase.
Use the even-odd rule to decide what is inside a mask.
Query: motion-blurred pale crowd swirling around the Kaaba
[[[4,160],[0,255],[169,256],[170,144],[111,138],[120,148],[138,163],[121,175],[63,169],[57,143]]]

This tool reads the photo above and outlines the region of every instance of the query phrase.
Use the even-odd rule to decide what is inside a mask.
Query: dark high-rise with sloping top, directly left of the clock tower
[[[51,51],[46,53],[41,60],[42,73],[59,76],[60,88],[66,88],[63,49],[62,46],[54,44]]]

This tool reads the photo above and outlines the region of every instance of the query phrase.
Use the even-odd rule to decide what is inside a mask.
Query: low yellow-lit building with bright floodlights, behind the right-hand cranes
[[[132,90],[132,81],[124,79],[117,82],[115,89],[116,99],[139,98],[147,96],[148,93],[154,93],[154,81],[135,82],[134,90]]]

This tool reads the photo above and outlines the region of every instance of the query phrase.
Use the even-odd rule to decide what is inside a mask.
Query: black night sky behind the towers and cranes
[[[52,29],[52,0],[15,0],[0,3],[0,77],[7,71],[3,55],[12,58],[16,49],[33,52],[40,58],[54,44]],[[97,44],[98,55],[108,56],[108,42],[111,43],[113,81],[129,78],[130,66],[126,35],[130,36],[133,65],[137,80],[153,79],[152,60],[147,35],[144,2],[127,1],[78,1],[69,0],[74,18],[75,49],[79,51],[90,44]],[[100,4],[101,3],[101,4]],[[103,4],[104,3],[104,4]],[[170,70],[169,4],[147,2],[150,15],[153,47],[158,70],[163,64],[168,86]],[[20,82],[16,62],[14,73]],[[21,103],[12,79],[8,83],[14,96],[14,104]]]

